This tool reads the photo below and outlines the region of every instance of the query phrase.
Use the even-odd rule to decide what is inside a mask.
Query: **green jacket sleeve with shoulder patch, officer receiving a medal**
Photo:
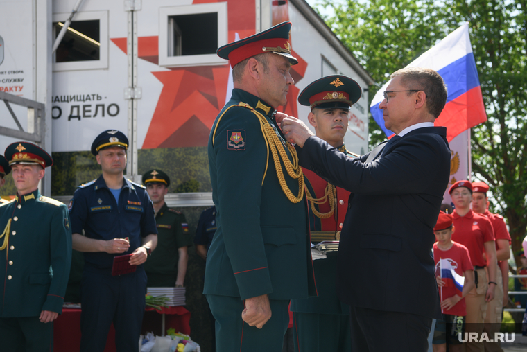
[[[230,134],[240,130],[245,131],[245,150],[227,149]],[[216,130],[214,152],[217,210],[240,297],[269,294],[273,287],[260,225],[262,180],[268,156],[257,116],[243,107],[227,112]]]

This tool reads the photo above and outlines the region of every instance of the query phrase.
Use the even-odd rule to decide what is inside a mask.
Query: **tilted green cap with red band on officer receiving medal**
[[[297,64],[298,60],[291,55],[291,44],[288,42],[290,31],[291,22],[282,22],[263,32],[220,46],[216,53],[220,58],[229,60],[231,67],[261,53],[282,55],[291,64]]]

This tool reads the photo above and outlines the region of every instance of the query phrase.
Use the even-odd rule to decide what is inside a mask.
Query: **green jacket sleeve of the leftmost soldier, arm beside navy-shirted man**
[[[71,227],[67,207],[58,206],[51,220],[51,269],[53,278],[42,310],[62,313],[71,267]]]

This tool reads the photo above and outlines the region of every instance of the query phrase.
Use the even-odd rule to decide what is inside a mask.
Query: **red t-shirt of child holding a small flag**
[[[469,250],[467,249],[467,247],[465,247],[464,245],[460,245],[459,243],[454,242],[452,247],[447,251],[439,249],[437,242],[433,244],[433,261],[435,261],[435,276],[440,276],[440,258],[447,259],[451,263],[453,270],[461,276],[465,276],[465,272],[467,270],[474,270],[474,267],[470,262]],[[458,291],[456,290],[456,288],[440,288],[439,297],[441,297],[441,301],[444,301],[445,299],[452,297],[454,294],[457,294],[457,292]],[[442,313],[465,317],[465,315],[467,315],[465,299],[461,299],[458,303],[456,303],[456,306],[453,306],[449,310],[443,310]]]

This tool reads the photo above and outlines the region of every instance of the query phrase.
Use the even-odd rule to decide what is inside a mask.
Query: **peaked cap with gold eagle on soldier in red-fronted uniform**
[[[349,109],[361,94],[361,87],[351,78],[332,75],[311,82],[298,96],[298,103],[311,109]]]

